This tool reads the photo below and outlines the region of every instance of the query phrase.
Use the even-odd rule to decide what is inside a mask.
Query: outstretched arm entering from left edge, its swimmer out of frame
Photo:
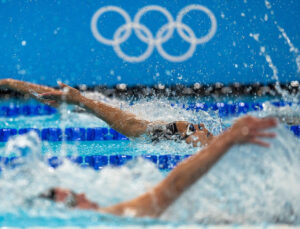
[[[36,98],[37,94],[57,91],[51,87],[28,83],[21,80],[15,80],[15,79],[0,80],[0,88],[7,88],[14,91],[18,91],[23,94],[28,94],[34,98]]]

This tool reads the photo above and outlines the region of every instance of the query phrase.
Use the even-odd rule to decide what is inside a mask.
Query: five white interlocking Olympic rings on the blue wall
[[[196,37],[194,31],[188,25],[182,22],[185,15],[192,10],[202,11],[209,17],[211,27],[207,34],[202,37]],[[166,24],[162,25],[155,36],[145,25],[140,23],[141,18],[149,11],[158,11],[162,13],[168,21]],[[125,20],[125,24],[121,25],[115,31],[113,39],[105,38],[101,35],[98,29],[99,18],[107,12],[118,13]],[[180,56],[170,55],[163,49],[163,44],[172,37],[175,29],[183,40],[190,43],[190,47],[187,52]],[[181,9],[176,17],[176,21],[174,21],[174,18],[170,12],[162,6],[148,5],[137,12],[133,22],[128,13],[122,8],[117,6],[105,6],[98,9],[93,15],[91,20],[91,30],[92,34],[99,42],[112,46],[118,57],[127,62],[138,63],[148,59],[153,53],[154,48],[156,48],[158,53],[168,61],[183,62],[194,55],[197,45],[204,44],[213,38],[217,31],[217,20],[215,15],[208,8],[199,4],[188,5]],[[125,54],[120,47],[122,43],[129,39],[132,34],[132,30],[142,42],[148,45],[146,51],[140,56],[129,56]]]

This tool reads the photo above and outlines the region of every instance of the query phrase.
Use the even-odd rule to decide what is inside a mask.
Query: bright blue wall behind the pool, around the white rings
[[[300,47],[300,1],[270,0],[270,9],[266,3],[264,0],[0,0],[0,77],[48,85],[55,85],[58,79],[72,85],[272,82],[272,70],[264,55],[260,55],[260,47],[264,46],[278,68],[281,82],[299,80],[298,54],[290,51],[277,25],[286,31],[295,47]],[[209,9],[216,18],[217,30],[209,41],[196,44],[193,55],[183,62],[167,60],[156,46],[144,61],[128,62],[117,56],[112,46],[98,41],[91,31],[93,15],[104,6],[119,6],[133,20],[147,5],[160,5],[176,18],[190,4]],[[154,37],[166,22],[159,12],[148,12],[141,19]],[[99,18],[96,27],[105,37],[112,38],[123,23],[120,15],[108,12]],[[212,26],[209,17],[200,11],[189,12],[183,23],[188,30],[185,34],[193,32],[197,37],[207,34]],[[146,29],[136,27],[144,31],[147,40]],[[259,34],[259,42],[250,33]],[[121,32],[120,36],[123,35]],[[162,47],[169,54],[182,55],[190,45],[175,31]],[[133,32],[120,47],[128,55],[138,55],[148,46]]]

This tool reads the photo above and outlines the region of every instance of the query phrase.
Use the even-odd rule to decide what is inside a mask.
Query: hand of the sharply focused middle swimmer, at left
[[[44,103],[54,107],[59,106],[62,102],[75,105],[79,103],[81,94],[77,89],[61,82],[58,82],[58,85],[62,89],[61,91],[42,93],[38,95],[38,98],[43,100]]]

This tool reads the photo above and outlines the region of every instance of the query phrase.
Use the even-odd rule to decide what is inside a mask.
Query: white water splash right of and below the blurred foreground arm
[[[230,150],[162,218],[207,224],[299,223],[300,142],[283,126],[276,133],[270,149]]]

